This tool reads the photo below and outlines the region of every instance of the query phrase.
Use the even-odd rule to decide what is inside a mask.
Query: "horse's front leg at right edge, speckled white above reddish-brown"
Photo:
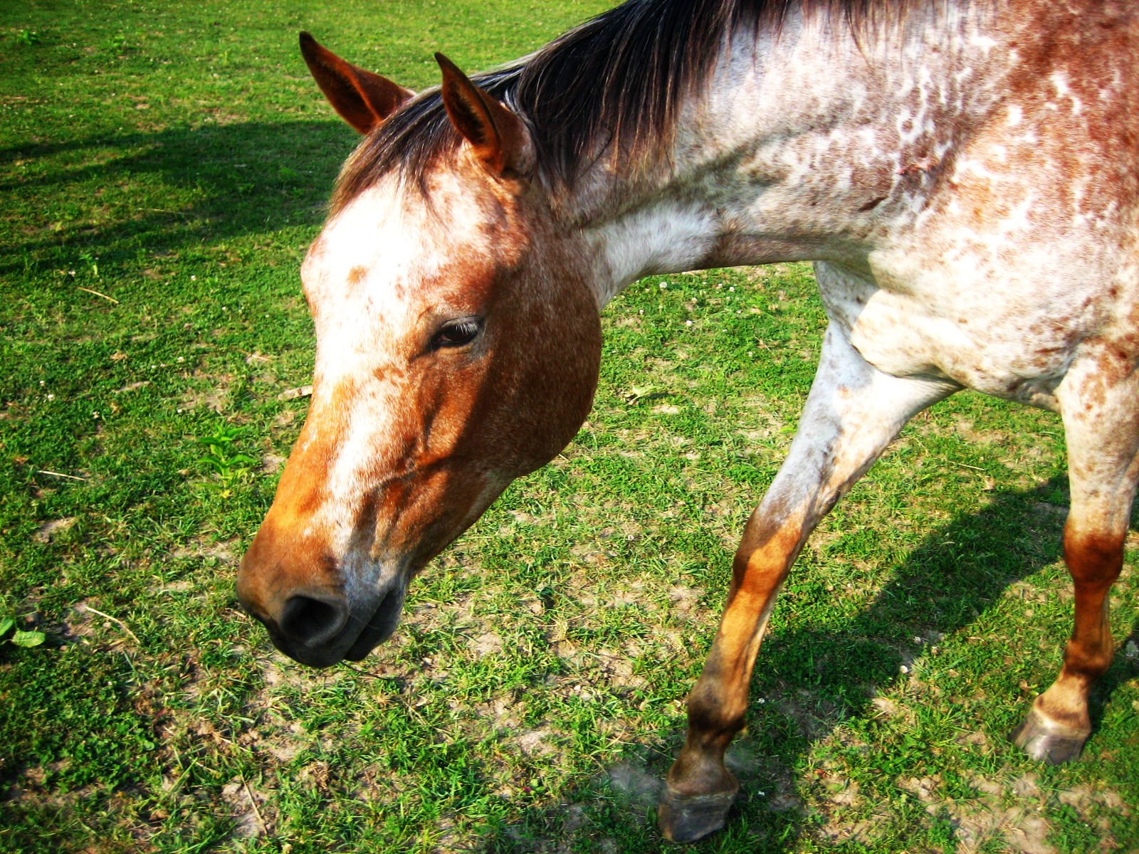
[[[1115,651],[1108,594],[1123,568],[1139,482],[1139,378],[1111,383],[1096,369],[1085,375],[1074,367],[1058,397],[1072,490],[1064,560],[1075,589],[1075,619],[1059,675],[1014,733],[1030,756],[1052,765],[1080,756],[1091,734],[1088,696]]]

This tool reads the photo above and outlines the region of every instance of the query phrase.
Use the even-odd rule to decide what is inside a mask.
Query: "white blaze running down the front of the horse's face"
[[[421,438],[408,370],[448,311],[446,266],[475,252],[470,192],[442,188],[434,204],[387,178],[329,221],[302,266],[317,332],[310,418],[320,419],[309,441],[334,446],[308,527],[345,557],[362,502],[385,476],[405,473]]]

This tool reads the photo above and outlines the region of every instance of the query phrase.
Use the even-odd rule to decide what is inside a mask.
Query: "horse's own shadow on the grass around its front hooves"
[[[804,627],[770,637],[760,652],[752,683],[751,734],[729,750],[729,765],[743,785],[737,804],[723,831],[687,849],[793,848],[808,820],[795,795],[796,769],[812,744],[842,721],[868,714],[875,697],[899,679],[908,679],[900,676],[901,665],[927,651],[924,646],[915,647],[915,637],[959,632],[984,614],[1010,584],[1060,558],[1066,507],[1054,502],[1066,502],[1065,490],[1066,478],[1057,477],[1031,492],[1001,493],[980,511],[960,512],[910,552],[870,607],[842,631]],[[1057,668],[1066,632],[1054,639]],[[1117,648],[1126,641],[1124,632],[1124,626],[1116,626]],[[1137,634],[1139,622],[1132,626],[1131,638]],[[1027,642],[994,651],[1017,660],[1039,656],[1035,646]],[[1048,673],[1047,684],[1052,678],[1051,663],[1039,664],[1038,670]],[[1095,691],[1091,711],[1097,730],[1112,692],[1137,675],[1139,664],[1117,655]],[[767,701],[755,703],[759,697]],[[1029,704],[1026,697],[1023,712],[1027,712]],[[1008,733],[984,734],[1000,741]],[[655,786],[626,785],[628,773],[622,770],[626,763],[618,763],[607,779],[591,781],[568,795],[568,807],[562,803],[532,811],[517,824],[494,832],[478,851],[587,851],[587,837],[596,840],[604,836],[611,837],[607,851],[659,851],[665,844],[653,827],[655,798],[671,756],[682,741],[682,732],[662,734],[661,741],[649,747],[650,758],[646,758],[649,750],[644,747],[630,749],[628,762],[639,764],[645,779],[656,781]],[[888,756],[891,747],[884,745],[882,749]],[[637,753],[641,755],[634,756]],[[767,795],[761,797],[760,791]],[[579,830],[582,836],[576,837],[582,844],[565,844],[564,837],[557,843],[550,840],[548,835],[554,828],[565,828],[567,836],[574,836],[573,831],[581,828],[574,811],[581,807],[590,816],[589,827]],[[622,826],[628,831],[613,838],[611,828]]]

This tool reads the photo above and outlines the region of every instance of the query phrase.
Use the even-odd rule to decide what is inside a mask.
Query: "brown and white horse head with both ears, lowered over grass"
[[[281,651],[327,666],[387,639],[412,576],[570,442],[600,325],[589,260],[556,228],[515,112],[442,56],[442,87],[416,98],[301,44],[328,100],[371,136],[361,150],[424,99],[457,134],[418,173],[342,194],[302,265],[311,408],[238,596]]]

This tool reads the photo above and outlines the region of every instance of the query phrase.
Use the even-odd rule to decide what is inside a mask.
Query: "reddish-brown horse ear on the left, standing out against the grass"
[[[301,55],[328,102],[360,133],[376,130],[416,95],[387,77],[345,63],[309,33],[301,33]]]

